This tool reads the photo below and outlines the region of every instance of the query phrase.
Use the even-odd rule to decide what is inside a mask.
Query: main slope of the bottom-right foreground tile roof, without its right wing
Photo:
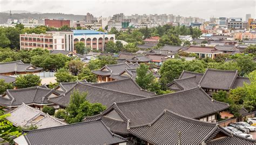
[[[171,111],[164,111],[149,124],[131,127],[129,132],[152,144],[200,144],[204,136],[214,131],[216,124],[183,117]]]

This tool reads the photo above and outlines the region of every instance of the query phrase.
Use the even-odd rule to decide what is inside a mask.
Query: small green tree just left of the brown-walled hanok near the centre
[[[88,67],[85,67],[78,74],[78,79],[83,80],[86,79],[88,82],[97,82],[97,75],[93,74]]]

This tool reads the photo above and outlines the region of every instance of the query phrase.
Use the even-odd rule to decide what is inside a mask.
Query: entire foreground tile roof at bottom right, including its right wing
[[[255,144],[255,140],[230,134],[218,124],[168,110],[149,124],[131,127],[129,133],[152,144]]]

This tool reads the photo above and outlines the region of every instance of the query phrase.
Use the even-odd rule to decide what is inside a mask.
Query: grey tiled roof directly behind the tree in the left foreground
[[[102,103],[107,107],[111,106],[113,102],[122,102],[125,100],[145,98],[145,96],[141,95],[134,95],[131,93],[115,91],[112,89],[104,89],[98,86],[77,82],[76,85],[73,86],[73,88],[69,91],[63,93],[58,97],[51,97],[48,101],[53,104],[65,107],[69,104],[70,96],[74,90],[78,90],[80,92],[87,92],[86,99],[89,100],[90,103]]]

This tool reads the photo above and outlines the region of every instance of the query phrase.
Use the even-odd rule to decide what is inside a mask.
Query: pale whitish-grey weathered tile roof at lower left
[[[59,121],[36,108],[25,105],[24,103],[11,111],[10,114],[11,115],[6,117],[6,119],[12,122],[15,126],[27,127],[33,125],[37,126],[38,129],[41,129],[66,125],[64,122]]]

